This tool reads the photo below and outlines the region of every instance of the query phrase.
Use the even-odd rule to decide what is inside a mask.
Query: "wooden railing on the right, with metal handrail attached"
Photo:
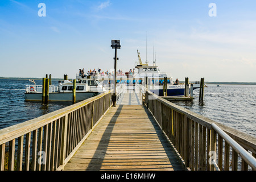
[[[177,106],[149,91],[144,102],[188,170],[256,169],[256,138]],[[242,146],[246,155],[231,147],[234,142],[222,138],[220,132],[214,130],[217,127],[213,127],[213,123]]]

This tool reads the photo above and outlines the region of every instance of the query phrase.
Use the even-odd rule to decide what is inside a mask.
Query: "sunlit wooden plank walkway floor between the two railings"
[[[112,107],[64,170],[184,170],[150,113]]]

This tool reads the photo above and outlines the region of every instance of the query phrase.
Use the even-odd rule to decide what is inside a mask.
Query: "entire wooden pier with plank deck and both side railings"
[[[256,138],[140,85],[121,93],[0,130],[0,171],[256,169]]]

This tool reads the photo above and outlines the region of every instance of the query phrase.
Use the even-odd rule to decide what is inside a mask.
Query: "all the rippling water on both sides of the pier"
[[[0,79],[0,129],[28,121],[71,105],[72,102],[26,102],[28,80]],[[41,80],[36,84],[42,84]],[[57,84],[57,81],[52,81]],[[204,101],[199,102],[199,89],[194,90],[193,102],[175,102],[207,118],[256,137],[256,85],[208,85]]]

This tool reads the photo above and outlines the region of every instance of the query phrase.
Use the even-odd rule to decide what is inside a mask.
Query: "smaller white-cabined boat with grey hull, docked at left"
[[[42,85],[26,85],[26,101],[42,101]],[[86,100],[106,92],[104,86],[96,79],[81,78],[76,81],[76,101]],[[58,85],[49,85],[49,101],[72,101],[73,82],[64,80]]]

